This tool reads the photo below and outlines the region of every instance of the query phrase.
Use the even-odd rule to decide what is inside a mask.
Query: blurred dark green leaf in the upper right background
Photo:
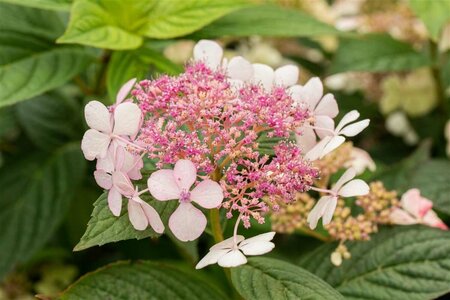
[[[347,71],[404,71],[430,65],[430,59],[411,45],[386,34],[343,38],[339,43],[331,73]]]

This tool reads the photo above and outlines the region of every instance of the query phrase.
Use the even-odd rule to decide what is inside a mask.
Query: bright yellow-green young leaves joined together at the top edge
[[[143,37],[172,38],[191,33],[241,8],[244,0],[75,0],[60,43],[114,50],[135,49]]]

